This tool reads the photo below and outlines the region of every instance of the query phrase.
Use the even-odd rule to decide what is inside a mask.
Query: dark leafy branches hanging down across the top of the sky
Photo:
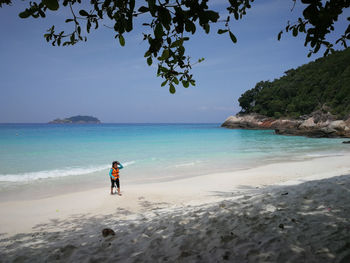
[[[310,48],[308,56],[317,53],[321,47],[325,47],[325,55],[334,51],[335,44],[347,47],[350,25],[335,43],[328,42],[326,36],[334,30],[334,23],[343,10],[350,6],[350,0],[290,0],[286,4],[295,5],[297,1],[301,1],[305,9],[295,23],[288,21],[286,28],[278,34],[278,40],[284,32],[295,37],[304,34],[305,46]],[[86,41],[86,34],[97,29],[101,21],[107,20],[114,24],[111,27],[114,37],[124,46],[124,34],[131,32],[135,19],[142,17],[142,21],[146,21],[143,23],[145,32],[148,32],[147,28],[152,32],[143,33],[143,39],[148,43],[145,59],[148,65],[158,64],[157,75],[164,79],[161,86],[168,85],[170,92],[175,93],[175,85],[181,83],[185,88],[195,85],[191,68],[203,60],[193,62],[186,54],[184,44],[190,36],[198,28],[208,34],[212,24],[221,23],[222,28],[217,33],[227,34],[236,43],[230,25],[233,20],[242,19],[254,5],[253,2],[227,0],[227,14],[222,18],[217,10],[208,7],[208,0],[144,0],[137,3],[135,0],[90,0],[88,9],[82,8],[81,0],[41,0],[29,2],[28,8],[19,16],[45,18],[48,10],[69,9],[71,16],[66,18],[65,23],[71,24],[72,30],[66,33],[52,26],[44,35],[47,42],[58,46]],[[0,7],[5,4],[11,5],[11,0],[0,0]],[[347,20],[350,21],[350,17]]]

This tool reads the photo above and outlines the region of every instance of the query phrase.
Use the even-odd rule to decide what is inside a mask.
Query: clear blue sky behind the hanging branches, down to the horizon
[[[287,21],[301,14],[300,2],[291,12],[292,0],[256,1],[242,21],[231,23],[237,44],[214,28],[209,35],[197,28],[200,33],[186,45],[191,57],[205,58],[193,69],[197,85],[178,87],[172,95],[143,57],[141,21],[125,36],[125,47],[106,27],[89,34],[86,43],[52,47],[43,34],[52,24],[64,26],[66,13],[23,20],[18,13],[28,1],[14,2],[0,9],[0,122],[48,122],[81,114],[102,122],[219,123],[240,110],[237,99],[257,82],[279,78],[322,55],[307,58],[302,36],[283,35],[277,41]],[[225,13],[227,1],[209,2]],[[344,32],[349,15],[346,10],[336,33]]]

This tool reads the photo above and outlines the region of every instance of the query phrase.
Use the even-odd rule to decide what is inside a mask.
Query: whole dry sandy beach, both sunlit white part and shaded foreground
[[[346,174],[349,155],[0,203],[0,261],[350,262]]]

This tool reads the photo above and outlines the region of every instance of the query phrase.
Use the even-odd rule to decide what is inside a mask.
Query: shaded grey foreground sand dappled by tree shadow
[[[75,215],[0,236],[1,262],[350,262],[350,176],[211,192],[225,200]],[[104,228],[115,236],[102,237]]]

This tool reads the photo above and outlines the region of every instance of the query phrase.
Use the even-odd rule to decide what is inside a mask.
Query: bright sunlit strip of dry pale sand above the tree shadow
[[[139,214],[144,211],[145,202],[163,203],[159,207],[167,208],[212,203],[222,199],[219,193],[236,195],[244,189],[260,189],[287,182],[298,184],[350,174],[349,160],[350,155],[321,157],[174,181],[122,185],[121,197],[111,196],[109,187],[103,187],[35,200],[1,202],[0,233],[8,236],[30,233],[38,224],[64,220],[75,214],[106,215],[118,209]]]

